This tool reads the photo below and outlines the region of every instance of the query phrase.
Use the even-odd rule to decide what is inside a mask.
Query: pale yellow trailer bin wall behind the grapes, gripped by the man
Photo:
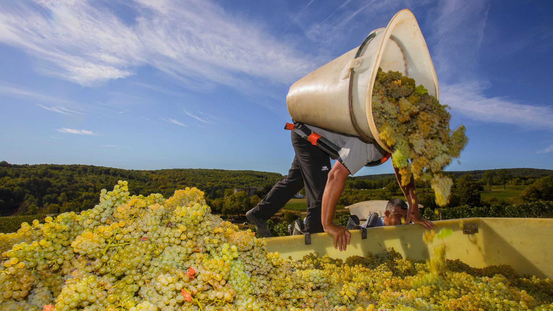
[[[362,239],[361,230],[352,230],[347,250],[334,248],[332,236],[311,234],[306,245],[303,235],[267,239],[267,250],[280,256],[300,259],[309,253],[328,254],[345,260],[349,256],[367,256],[380,253],[388,247],[404,257],[424,260],[430,257],[436,243],[445,242],[448,259],[459,259],[471,267],[510,265],[519,274],[553,278],[553,219],[542,218],[468,218],[435,221],[436,232],[450,228],[453,235],[435,239],[429,245],[422,241],[425,228],[421,225],[400,225],[367,229]]]

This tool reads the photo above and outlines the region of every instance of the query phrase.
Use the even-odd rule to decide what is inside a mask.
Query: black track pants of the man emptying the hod
[[[325,191],[330,157],[321,149],[291,131],[296,153],[288,175],[278,181],[265,198],[254,208],[254,216],[267,220],[278,212],[305,185],[307,216],[305,230],[323,232],[321,224],[322,194]]]

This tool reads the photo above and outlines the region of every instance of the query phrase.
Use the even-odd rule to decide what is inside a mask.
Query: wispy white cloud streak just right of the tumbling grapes
[[[506,97],[489,97],[476,83],[442,85],[440,102],[477,121],[553,130],[553,108],[528,105]]]

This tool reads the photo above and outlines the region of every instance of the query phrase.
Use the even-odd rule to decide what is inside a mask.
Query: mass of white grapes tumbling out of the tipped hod
[[[441,170],[460,156],[467,137],[465,127],[451,132],[447,106],[428,94],[415,80],[399,71],[378,69],[372,96],[374,123],[380,139],[392,149],[392,162],[399,169],[401,183],[415,180],[430,182],[436,204],[449,201],[451,178]]]

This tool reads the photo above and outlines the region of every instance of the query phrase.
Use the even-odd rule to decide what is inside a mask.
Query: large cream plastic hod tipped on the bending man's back
[[[355,56],[359,48],[355,48],[295,82],[286,96],[286,106],[296,122],[372,138],[390,151],[380,141],[372,117],[371,95],[378,68],[400,71],[436,98],[438,81],[426,42],[411,11],[399,11],[386,28],[372,33],[374,37],[368,40],[358,58]],[[351,116],[350,77],[353,77]]]

